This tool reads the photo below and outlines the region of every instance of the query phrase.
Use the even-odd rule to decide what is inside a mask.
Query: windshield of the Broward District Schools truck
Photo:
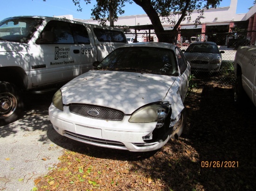
[[[8,18],[0,22],[0,40],[18,43],[28,43],[43,19],[38,18]]]

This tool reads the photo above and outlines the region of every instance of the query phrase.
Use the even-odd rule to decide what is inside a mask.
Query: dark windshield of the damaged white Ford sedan
[[[96,70],[115,70],[178,76],[175,54],[170,49],[123,47],[111,52]]]

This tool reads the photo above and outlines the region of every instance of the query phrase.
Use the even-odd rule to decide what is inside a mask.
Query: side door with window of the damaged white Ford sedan
[[[189,70],[189,65],[187,64],[186,58],[184,57],[182,51],[178,47],[175,48],[175,53],[177,56],[177,62],[178,62],[180,78],[181,78],[180,91],[181,91],[182,101],[184,101],[189,88],[190,70]]]

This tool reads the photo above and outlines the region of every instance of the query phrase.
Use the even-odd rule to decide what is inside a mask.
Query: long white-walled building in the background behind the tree
[[[248,25],[248,31],[256,31],[256,5],[253,6],[248,13],[236,14],[237,0],[231,0],[230,6],[211,8],[204,11],[204,17],[201,19],[201,24],[195,27],[194,20],[198,16],[197,11],[195,10],[190,20],[184,20],[181,22],[180,29],[183,31],[186,29],[187,32],[192,33],[201,33],[204,34],[207,32],[207,28],[210,26],[218,26],[217,28],[222,29],[220,32],[231,32],[231,28],[234,27],[237,23],[245,22]],[[65,17],[67,19],[74,19],[72,15],[64,15],[58,17]],[[162,18],[161,18],[162,19]],[[176,15],[174,20],[179,19],[179,15]],[[98,21],[93,19],[74,19],[88,24],[98,24]],[[121,16],[118,18],[118,21],[115,22],[115,25],[121,26],[139,26],[139,25],[151,25],[151,21],[148,18],[147,14],[141,15],[130,15],[130,16]],[[109,23],[107,23],[109,25]],[[171,30],[173,25],[170,25],[167,21],[163,22],[163,27],[165,30]],[[256,40],[256,33],[249,32],[248,38],[252,42]],[[178,36],[179,40],[181,35]],[[201,40],[204,40],[204,35],[201,36]]]

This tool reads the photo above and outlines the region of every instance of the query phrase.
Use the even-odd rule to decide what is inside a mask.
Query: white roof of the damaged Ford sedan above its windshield
[[[166,48],[174,50],[176,45],[170,43],[159,43],[159,42],[144,42],[144,43],[130,43],[122,45],[121,47],[157,47],[157,48]]]

